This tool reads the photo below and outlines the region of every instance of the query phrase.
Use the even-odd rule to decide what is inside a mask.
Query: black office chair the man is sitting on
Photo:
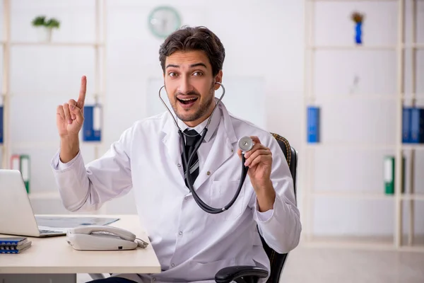
[[[273,137],[278,141],[278,145],[284,153],[285,159],[287,160],[290,173],[293,178],[293,188],[296,197],[296,170],[298,167],[298,152],[293,149],[288,143],[288,140],[281,137],[278,134],[271,133]],[[259,231],[258,231],[259,233]],[[288,253],[276,253],[275,250],[269,248],[261,236],[262,245],[266,255],[268,255],[269,261],[271,262],[271,275],[266,283],[278,283],[283,270],[285,260],[287,260]],[[237,283],[256,283],[259,278],[265,278],[268,276],[268,271],[260,267],[255,266],[232,266],[225,267],[219,270],[215,275],[215,281],[218,283],[229,283],[235,281]]]

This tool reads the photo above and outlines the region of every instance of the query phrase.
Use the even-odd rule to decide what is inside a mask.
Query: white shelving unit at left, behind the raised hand
[[[11,137],[10,137],[10,117],[14,115],[11,111],[11,98],[16,93],[11,93],[11,73],[10,67],[11,62],[11,49],[13,47],[78,47],[78,48],[93,48],[94,52],[94,78],[90,80],[90,83],[94,84],[94,92],[86,93],[86,100],[93,98],[97,103],[101,98],[105,96],[106,89],[106,4],[105,0],[94,0],[95,1],[95,13],[93,19],[95,21],[95,38],[91,42],[26,42],[26,41],[11,41],[11,4],[13,0],[3,0],[3,35],[4,38],[0,40],[0,44],[3,47],[3,77],[2,77],[2,88],[1,88],[1,101],[4,106],[4,143],[0,144],[1,149],[1,168],[10,168],[10,158],[13,154],[11,152]],[[30,23],[28,23],[30,25]],[[101,71],[101,72],[100,72]],[[82,76],[83,74],[81,74]],[[100,78],[100,75],[102,78]],[[66,91],[66,90],[65,90]],[[69,98],[76,99],[78,93],[69,93]],[[105,101],[102,101],[102,106],[105,106]],[[54,109],[52,110],[54,111]],[[81,141],[82,144],[88,144],[88,142]],[[99,148],[102,145],[102,141],[90,142],[93,145],[95,158],[99,157]],[[15,142],[14,147],[20,149],[39,149],[46,147],[57,147],[59,144],[52,143],[52,141],[46,142]],[[34,165],[33,165],[34,166]],[[29,193],[30,200],[59,200],[59,192],[55,187],[48,188],[45,191],[35,190]],[[105,209],[100,210],[100,213],[105,212]]]

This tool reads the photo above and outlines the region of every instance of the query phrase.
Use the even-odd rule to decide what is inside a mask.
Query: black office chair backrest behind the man
[[[298,168],[298,152],[290,146],[287,139],[281,137],[278,134],[273,134],[273,137],[278,141],[278,144],[281,147],[281,150],[284,153],[285,159],[287,160],[288,167],[290,168],[290,173],[293,178],[293,187],[295,193],[295,199],[297,200],[296,194],[296,170]],[[268,255],[269,261],[271,262],[271,274],[266,283],[278,283],[280,280],[281,270],[283,270],[285,260],[287,259],[287,253],[276,253],[275,250],[269,248],[269,246],[264,241],[264,238],[261,237],[262,245]]]

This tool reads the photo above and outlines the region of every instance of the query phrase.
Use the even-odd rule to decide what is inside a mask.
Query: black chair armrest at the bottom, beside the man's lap
[[[223,269],[216,272],[215,281],[217,283],[229,283],[244,277],[252,278],[265,278],[268,276],[268,271],[263,268],[251,265],[238,265],[224,267]]]

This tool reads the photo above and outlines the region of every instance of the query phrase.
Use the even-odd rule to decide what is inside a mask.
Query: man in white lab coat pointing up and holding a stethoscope
[[[215,91],[220,94],[223,82],[225,49],[211,30],[179,29],[166,38],[159,54],[172,115],[187,136],[187,153],[193,142],[189,139],[200,137],[213,112],[190,168],[197,195],[211,207],[230,202],[242,168],[237,141],[244,136],[254,141],[245,154],[247,178],[230,209],[219,214],[201,209],[184,180],[184,144],[166,110],[135,122],[104,156],[85,164],[78,144],[86,96],[83,76],[78,100],[57,107],[61,142],[52,168],[62,202],[71,212],[93,211],[134,190],[137,211],[163,270],[100,280],[214,282],[223,267],[257,265],[269,270],[257,225],[266,243],[278,253],[298,246],[302,230],[283,152],[269,132],[232,116],[223,102],[213,111],[218,102]]]

